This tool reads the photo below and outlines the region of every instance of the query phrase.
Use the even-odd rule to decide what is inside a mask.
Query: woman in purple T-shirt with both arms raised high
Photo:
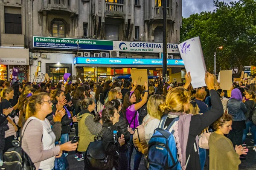
[[[131,89],[131,91],[125,94],[123,108],[122,108],[128,122],[128,127],[131,127],[133,130],[135,130],[135,128],[139,126],[139,113],[137,110],[143,107],[143,105],[147,102],[147,99],[148,99],[148,83],[145,82],[144,97],[140,102],[135,103],[136,96],[134,94],[134,90],[136,89],[136,87],[137,87],[137,82],[134,81],[134,87]],[[131,134],[130,142],[131,144],[133,144],[133,134]],[[129,154],[130,154],[129,170],[131,170],[131,155],[133,153],[133,150],[134,150],[134,147],[129,148]],[[139,169],[141,157],[142,157],[142,153],[137,151],[134,159],[134,170]]]

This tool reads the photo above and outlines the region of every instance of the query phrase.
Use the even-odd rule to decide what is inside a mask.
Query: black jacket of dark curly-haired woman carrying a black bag
[[[119,148],[121,147],[118,139],[117,142],[114,142],[113,140],[113,131],[117,131],[118,138],[121,137],[120,130],[111,123],[103,123],[102,130],[99,133],[99,136],[102,137],[103,147],[108,156],[110,156],[111,161],[114,163],[114,167],[116,169],[118,168],[118,160],[119,160],[119,154],[117,153],[119,151]],[[112,170],[112,169],[111,169]]]

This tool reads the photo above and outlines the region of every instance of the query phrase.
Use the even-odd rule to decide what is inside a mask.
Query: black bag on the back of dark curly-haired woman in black
[[[95,136],[94,142],[90,142],[84,159],[90,170],[112,170],[113,168],[113,159],[105,152],[101,136]]]

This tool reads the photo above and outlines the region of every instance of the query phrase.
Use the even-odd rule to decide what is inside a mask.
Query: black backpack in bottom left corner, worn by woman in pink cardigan
[[[32,120],[28,122],[26,127],[31,121]],[[26,130],[26,127],[24,129],[24,132]],[[21,141],[23,135],[20,136],[20,142],[17,140],[13,140],[12,144],[14,147],[8,149],[3,155],[3,158],[5,160],[3,162],[3,165],[6,170],[35,170],[34,163],[30,159],[28,154],[21,148]]]

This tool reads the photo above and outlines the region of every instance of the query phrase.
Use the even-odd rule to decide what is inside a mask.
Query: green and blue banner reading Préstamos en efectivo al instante
[[[33,36],[34,48],[113,50],[113,41]]]

